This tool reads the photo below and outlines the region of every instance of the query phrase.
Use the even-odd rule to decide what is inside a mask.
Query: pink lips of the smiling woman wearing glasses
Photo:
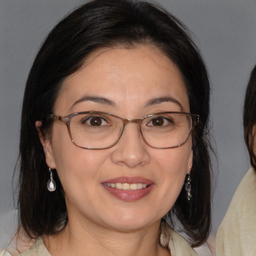
[[[147,187],[137,189],[137,190],[122,190],[122,189],[117,189],[114,187],[109,187],[104,185],[104,183],[143,183],[147,184]],[[127,201],[127,202],[132,202],[139,200],[146,196],[154,187],[154,183],[152,180],[142,178],[142,177],[117,177],[113,179],[109,179],[106,181],[103,181],[102,186],[106,189],[107,192],[109,192],[111,195],[114,195],[120,200]]]

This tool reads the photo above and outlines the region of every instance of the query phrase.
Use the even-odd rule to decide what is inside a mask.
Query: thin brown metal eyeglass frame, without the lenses
[[[120,135],[119,135],[119,137],[116,139],[116,141],[115,141],[114,143],[112,143],[111,145],[105,146],[105,147],[99,147],[99,148],[90,148],[90,147],[85,147],[85,146],[77,145],[77,144],[75,143],[75,141],[73,140],[72,135],[71,135],[71,131],[70,131],[70,126],[69,126],[70,120],[71,120],[72,116],[75,116],[75,115],[77,115],[77,114],[93,114],[93,113],[95,113],[95,114],[105,114],[105,115],[115,116],[115,117],[117,117],[117,118],[119,118],[119,119],[121,119],[121,120],[123,121],[123,126],[122,126],[122,130],[121,130],[121,132],[120,132]],[[164,113],[178,113],[178,114],[184,114],[184,115],[190,116],[190,118],[191,118],[190,130],[189,130],[189,132],[188,132],[187,137],[184,139],[184,141],[181,142],[181,143],[178,144],[178,145],[169,146],[169,147],[156,147],[156,146],[152,146],[152,145],[148,144],[148,142],[145,140],[145,138],[144,138],[144,136],[143,136],[143,133],[142,133],[142,131],[141,131],[141,122],[142,122],[143,119],[145,119],[145,118],[147,118],[147,117],[151,117],[151,116],[159,115],[159,114],[164,114]],[[76,146],[78,146],[78,147],[80,147],[80,148],[84,148],[84,149],[105,149],[105,148],[109,148],[109,147],[114,146],[114,145],[118,142],[118,140],[120,139],[120,137],[121,137],[121,135],[122,135],[122,132],[123,132],[123,130],[124,130],[125,125],[126,125],[127,123],[130,123],[130,122],[133,122],[133,123],[137,123],[137,124],[138,124],[139,133],[141,134],[141,137],[142,137],[143,141],[144,141],[148,146],[150,146],[150,147],[152,147],[152,148],[158,148],[158,149],[175,148],[175,147],[179,147],[179,146],[183,145],[183,144],[186,142],[187,138],[189,137],[189,135],[190,135],[190,133],[191,133],[191,130],[192,130],[193,127],[199,122],[199,115],[198,115],[198,114],[192,114],[192,113],[182,112],[182,111],[165,111],[165,112],[158,112],[158,113],[149,114],[149,115],[144,116],[143,118],[139,118],[139,119],[126,119],[126,118],[122,118],[122,117],[119,117],[119,116],[117,116],[117,115],[114,115],[114,114],[111,114],[111,113],[102,112],[102,111],[84,111],[84,112],[76,112],[76,113],[71,113],[71,114],[68,114],[68,115],[65,115],[65,116],[50,114],[50,117],[51,117],[53,120],[58,120],[58,121],[60,121],[60,122],[63,122],[64,124],[66,124],[67,130],[68,130],[68,134],[69,134],[69,136],[70,136],[72,142],[73,142]]]

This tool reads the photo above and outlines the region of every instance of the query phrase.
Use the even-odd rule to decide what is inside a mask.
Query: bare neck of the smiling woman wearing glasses
[[[52,256],[104,255],[104,256],[156,256],[170,255],[159,244],[160,220],[132,231],[119,231],[98,226],[95,223],[75,223],[57,235],[44,237],[44,244]]]

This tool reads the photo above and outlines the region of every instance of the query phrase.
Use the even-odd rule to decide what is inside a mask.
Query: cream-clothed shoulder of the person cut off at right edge
[[[250,168],[237,187],[216,236],[217,255],[256,253],[256,172]]]

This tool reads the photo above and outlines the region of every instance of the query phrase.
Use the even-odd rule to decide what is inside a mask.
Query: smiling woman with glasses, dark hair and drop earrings
[[[196,255],[210,228],[209,81],[186,28],[94,0],[49,33],[20,131],[20,255]],[[4,255],[8,255],[5,252]]]

